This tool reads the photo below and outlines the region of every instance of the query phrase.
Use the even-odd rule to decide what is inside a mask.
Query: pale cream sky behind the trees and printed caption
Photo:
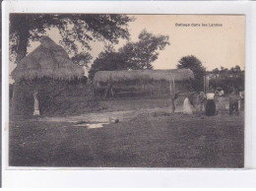
[[[183,56],[194,55],[207,70],[231,68],[244,69],[245,26],[244,16],[231,15],[128,15],[135,18],[129,23],[131,41],[137,41],[144,29],[154,34],[169,36],[170,45],[160,50],[154,69],[174,69]],[[204,27],[202,26],[204,24]],[[46,33],[56,43],[61,39],[57,30]],[[120,39],[116,49],[126,40]],[[30,53],[39,42],[32,42]],[[93,42],[91,54],[96,58],[103,50],[102,42]],[[94,61],[93,59],[93,61]],[[16,67],[10,63],[10,72]]]

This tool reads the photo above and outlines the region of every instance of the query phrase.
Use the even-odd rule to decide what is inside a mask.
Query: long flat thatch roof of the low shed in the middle
[[[194,79],[194,73],[189,69],[173,70],[131,70],[131,71],[98,71],[96,72],[94,82],[112,82],[130,81],[130,80],[174,80],[185,81]]]

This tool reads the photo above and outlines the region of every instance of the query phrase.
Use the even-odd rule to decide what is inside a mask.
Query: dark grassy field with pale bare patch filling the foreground
[[[78,116],[11,120],[10,165],[243,167],[243,113],[170,114],[167,98],[99,103]]]

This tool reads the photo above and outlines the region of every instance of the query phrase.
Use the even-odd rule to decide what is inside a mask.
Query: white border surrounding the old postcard
[[[254,4],[254,10],[256,11]],[[2,58],[2,177],[4,187],[220,187],[256,185],[255,67],[252,67],[252,2],[249,1],[9,1],[3,2]],[[124,14],[241,14],[246,17],[245,31],[245,168],[60,168],[8,166],[8,97],[9,97],[9,13],[124,13]],[[253,32],[252,32],[253,30]],[[253,44],[254,43],[254,44]],[[255,60],[255,55],[254,55]],[[255,84],[255,83],[254,83]],[[22,170],[21,170],[22,169]],[[40,169],[40,170],[38,170]],[[58,170],[56,170],[58,169]],[[154,169],[154,170],[151,170]]]

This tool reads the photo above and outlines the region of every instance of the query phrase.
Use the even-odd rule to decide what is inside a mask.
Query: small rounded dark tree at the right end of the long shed
[[[187,68],[193,71],[195,81],[192,83],[192,88],[197,91],[204,90],[204,76],[206,74],[206,68],[202,65],[202,62],[194,55],[184,56],[179,60],[177,64],[178,69]]]

